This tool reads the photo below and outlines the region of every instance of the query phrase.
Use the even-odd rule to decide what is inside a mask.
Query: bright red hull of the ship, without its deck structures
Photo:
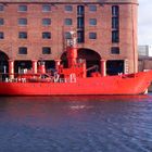
[[[141,94],[151,73],[77,78],[72,83],[0,83],[1,96]]]

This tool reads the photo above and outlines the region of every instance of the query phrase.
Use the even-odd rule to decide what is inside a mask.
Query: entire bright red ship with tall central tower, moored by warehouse
[[[76,39],[67,47],[68,66],[64,67],[60,60],[53,72],[46,73],[40,62],[38,73],[1,74],[1,96],[65,96],[65,94],[141,94],[145,93],[152,80],[152,71],[135,74],[106,76],[103,62],[101,73],[87,72],[97,66],[86,68],[85,60],[77,60]]]

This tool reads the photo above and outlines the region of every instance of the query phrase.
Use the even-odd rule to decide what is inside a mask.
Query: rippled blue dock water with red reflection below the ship
[[[152,152],[152,94],[1,97],[0,152]]]

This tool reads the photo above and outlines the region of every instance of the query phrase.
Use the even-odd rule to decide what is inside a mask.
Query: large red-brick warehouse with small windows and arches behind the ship
[[[0,72],[66,65],[66,39],[77,33],[87,67],[137,72],[137,0],[0,0]],[[36,69],[37,71],[37,69]]]

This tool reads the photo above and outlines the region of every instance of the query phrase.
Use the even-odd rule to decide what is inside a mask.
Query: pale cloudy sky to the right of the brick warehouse
[[[138,1],[138,45],[152,45],[152,0]]]

